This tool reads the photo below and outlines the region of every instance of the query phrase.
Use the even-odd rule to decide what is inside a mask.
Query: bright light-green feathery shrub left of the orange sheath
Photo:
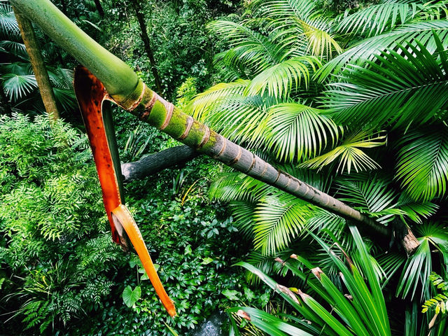
[[[119,265],[92,202],[100,194],[86,139],[60,120],[13,113],[0,118],[0,148],[3,322],[62,328],[103,307]]]

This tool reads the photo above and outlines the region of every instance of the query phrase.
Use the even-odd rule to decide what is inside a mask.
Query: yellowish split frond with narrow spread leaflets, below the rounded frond
[[[307,160],[300,164],[299,167],[321,170],[339,159],[337,172],[343,173],[346,170],[350,174],[352,168],[356,172],[377,169],[379,167],[377,162],[369,158],[360,148],[374,148],[384,144],[386,144],[386,135],[381,135],[381,133],[370,134],[365,131],[356,132],[347,137],[342,141],[342,144],[332,149],[332,151]]]

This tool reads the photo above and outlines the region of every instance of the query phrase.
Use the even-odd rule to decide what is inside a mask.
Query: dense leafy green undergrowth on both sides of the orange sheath
[[[192,162],[126,185],[128,207],[176,301],[179,316],[169,321],[136,256],[111,241],[86,141],[63,122],[50,127],[45,117],[1,118],[6,332],[19,322],[30,333],[165,335],[167,323],[184,334],[228,307],[228,297],[247,300],[246,293],[267,304],[268,293],[255,297],[243,274],[230,269],[246,250],[225,208],[209,202],[209,180],[201,178],[221,168]],[[141,291],[131,307],[122,298],[127,286]]]

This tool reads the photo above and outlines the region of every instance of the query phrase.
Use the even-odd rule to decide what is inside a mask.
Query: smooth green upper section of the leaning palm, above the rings
[[[76,27],[51,1],[10,0],[10,3],[99,78],[118,103],[125,102],[137,88],[139,78],[130,66]]]

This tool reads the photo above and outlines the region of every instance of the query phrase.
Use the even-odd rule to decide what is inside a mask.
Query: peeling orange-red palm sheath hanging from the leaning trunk
[[[176,315],[176,309],[172,300],[167,295],[165,288],[160,282],[155,271],[153,261],[148,253],[145,242],[137,224],[132,218],[129,210],[125,207],[124,197],[120,193],[118,174],[120,167],[115,167],[112,152],[116,150],[111,128],[104,122],[103,102],[109,99],[109,95],[104,85],[84,67],[78,66],[75,71],[74,87],[76,98],[83,120],[85,130],[89,137],[92,148],[99,182],[101,183],[104,208],[112,230],[112,239],[117,244],[127,248],[127,239],[123,232],[126,232],[132,245],[134,246],[151,283],[159,295],[162,304],[167,309],[169,315]],[[110,100],[110,99],[109,99]]]

